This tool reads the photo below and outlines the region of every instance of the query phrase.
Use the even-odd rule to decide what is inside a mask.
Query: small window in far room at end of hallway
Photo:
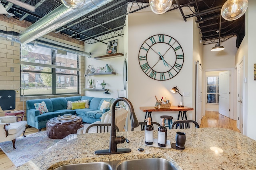
[[[219,77],[207,77],[206,82],[206,103],[218,104],[219,103]]]

